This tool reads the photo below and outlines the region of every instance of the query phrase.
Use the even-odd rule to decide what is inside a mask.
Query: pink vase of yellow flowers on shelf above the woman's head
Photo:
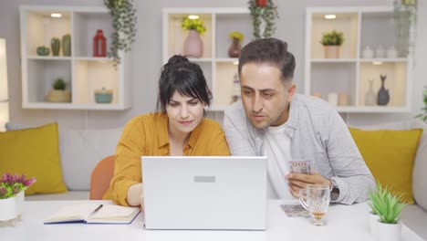
[[[206,32],[203,20],[184,16],[182,17],[181,26],[184,30],[190,30],[184,41],[184,55],[193,58],[201,58],[203,56],[203,41],[200,35]]]

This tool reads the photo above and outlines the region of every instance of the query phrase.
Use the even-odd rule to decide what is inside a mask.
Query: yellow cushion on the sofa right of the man
[[[412,167],[422,129],[349,131],[374,178],[392,193],[403,194],[402,202],[413,204]]]

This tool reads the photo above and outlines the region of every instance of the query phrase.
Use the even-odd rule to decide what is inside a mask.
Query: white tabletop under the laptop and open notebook
[[[147,240],[147,241],[275,241],[275,240],[374,240],[368,225],[367,204],[331,205],[326,226],[309,224],[304,217],[287,217],[280,209],[283,201],[272,200],[267,207],[266,231],[197,231],[144,230],[139,215],[131,225],[43,225],[43,220],[60,207],[81,203],[108,201],[29,201],[22,221],[15,227],[0,225],[0,240]],[[402,241],[422,240],[408,227],[402,227]]]

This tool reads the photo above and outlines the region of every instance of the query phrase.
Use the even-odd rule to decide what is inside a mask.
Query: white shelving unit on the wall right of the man
[[[335,19],[326,19],[335,15]],[[343,32],[344,43],[339,58],[324,58],[319,43],[324,32]],[[393,9],[391,6],[370,7],[309,7],[306,19],[305,93],[344,93],[349,105],[337,106],[339,112],[408,112],[411,111],[411,57],[362,58],[361,52],[370,46],[396,46]],[[365,105],[368,79],[373,79],[375,94],[380,89],[380,75],[387,75],[385,89],[390,89],[386,106]]]

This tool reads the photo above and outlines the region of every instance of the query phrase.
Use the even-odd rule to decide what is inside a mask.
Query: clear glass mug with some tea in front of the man
[[[330,187],[322,184],[308,184],[299,191],[299,203],[313,217],[313,225],[326,225],[324,216],[328,212]]]

